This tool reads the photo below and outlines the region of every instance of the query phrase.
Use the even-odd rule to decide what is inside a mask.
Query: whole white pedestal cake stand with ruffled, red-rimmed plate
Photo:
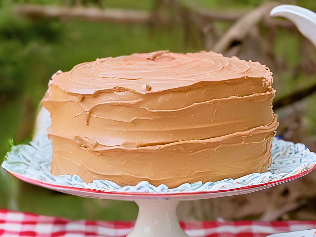
[[[270,172],[262,174],[215,183],[184,184],[175,189],[168,189],[165,185],[155,187],[148,182],[123,188],[106,180],[86,184],[79,176],[54,176],[50,172],[52,145],[47,137],[49,126],[49,113],[41,109],[33,141],[13,147],[2,167],[18,179],[55,191],[80,197],[135,201],[139,212],[134,229],[130,234],[126,233],[128,237],[188,237],[180,228],[176,213],[180,201],[246,194],[297,179],[316,167],[316,155],[305,145],[274,139]]]

